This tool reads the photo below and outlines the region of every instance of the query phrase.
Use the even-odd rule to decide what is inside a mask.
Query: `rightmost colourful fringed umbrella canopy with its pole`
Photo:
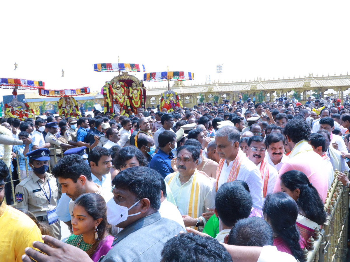
[[[168,81],[168,90],[170,90],[170,81],[178,80],[194,80],[194,74],[191,72],[184,71],[164,71],[164,72],[153,72],[153,73],[144,73],[143,81]]]

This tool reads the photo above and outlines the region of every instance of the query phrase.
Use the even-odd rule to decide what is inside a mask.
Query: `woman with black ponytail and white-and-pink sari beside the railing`
[[[316,227],[320,228],[326,221],[324,204],[317,189],[307,176],[299,170],[290,170],[281,175],[281,191],[286,192],[298,205],[297,227],[301,236],[307,241],[314,236]]]

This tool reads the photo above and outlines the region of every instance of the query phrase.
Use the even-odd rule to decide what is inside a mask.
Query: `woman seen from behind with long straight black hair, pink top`
[[[293,198],[285,192],[269,194],[265,198],[262,212],[274,232],[273,245],[277,250],[293,255],[299,261],[305,261],[302,248],[306,246],[306,242],[296,228],[298,206]]]

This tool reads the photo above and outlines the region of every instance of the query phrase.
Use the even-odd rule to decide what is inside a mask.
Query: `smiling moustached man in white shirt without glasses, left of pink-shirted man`
[[[288,160],[288,157],[284,154],[285,138],[281,133],[270,133],[265,139],[265,145],[267,149],[265,159],[279,171],[283,163]]]

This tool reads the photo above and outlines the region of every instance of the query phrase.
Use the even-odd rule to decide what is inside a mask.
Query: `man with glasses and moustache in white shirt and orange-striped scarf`
[[[266,146],[262,136],[252,136],[248,140],[248,156],[260,170],[262,177],[263,189],[262,194],[264,197],[273,192],[275,183],[277,180],[278,172],[271,166],[265,159]]]

